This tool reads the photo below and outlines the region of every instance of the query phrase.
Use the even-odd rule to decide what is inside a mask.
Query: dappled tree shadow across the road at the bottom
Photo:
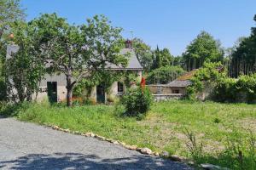
[[[13,161],[0,161],[6,169],[191,169],[181,163],[153,158],[131,156],[126,158],[101,159],[99,156],[76,153],[53,155],[32,154]]]

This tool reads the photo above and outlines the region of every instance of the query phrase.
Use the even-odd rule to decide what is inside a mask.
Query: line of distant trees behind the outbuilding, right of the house
[[[256,21],[256,14],[253,20]],[[172,75],[180,72],[177,71],[180,68],[192,71],[211,62],[222,63],[228,71],[228,76],[236,78],[256,72],[256,27],[252,27],[251,30],[249,37],[239,38],[232,48],[223,48],[219,40],[214,39],[208,32],[201,31],[181,56],[173,56],[168,48],[160,49],[157,46],[156,49],[152,49],[139,38],[133,39],[133,48],[144,67],[145,75],[150,75],[148,83],[168,82],[173,79]]]

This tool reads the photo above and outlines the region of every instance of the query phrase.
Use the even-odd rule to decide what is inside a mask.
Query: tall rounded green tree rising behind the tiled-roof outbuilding
[[[220,42],[206,31],[201,31],[183,53],[187,71],[200,68],[205,62],[222,61],[223,58],[224,50],[220,47]]]

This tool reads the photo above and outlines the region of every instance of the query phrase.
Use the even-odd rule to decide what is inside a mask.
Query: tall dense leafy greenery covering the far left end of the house
[[[15,34],[12,41],[19,50],[5,62],[9,99],[15,102],[31,101],[32,94],[38,94],[39,83],[46,71],[42,58],[44,52],[38,48],[41,42],[32,23],[15,21],[11,31]]]

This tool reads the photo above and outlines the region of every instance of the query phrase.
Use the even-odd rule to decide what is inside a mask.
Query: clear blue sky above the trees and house
[[[225,48],[255,26],[256,0],[21,0],[27,20],[56,12],[81,24],[104,14],[113,26],[125,29],[125,38],[140,37],[152,48],[182,54],[200,31],[208,31]]]

